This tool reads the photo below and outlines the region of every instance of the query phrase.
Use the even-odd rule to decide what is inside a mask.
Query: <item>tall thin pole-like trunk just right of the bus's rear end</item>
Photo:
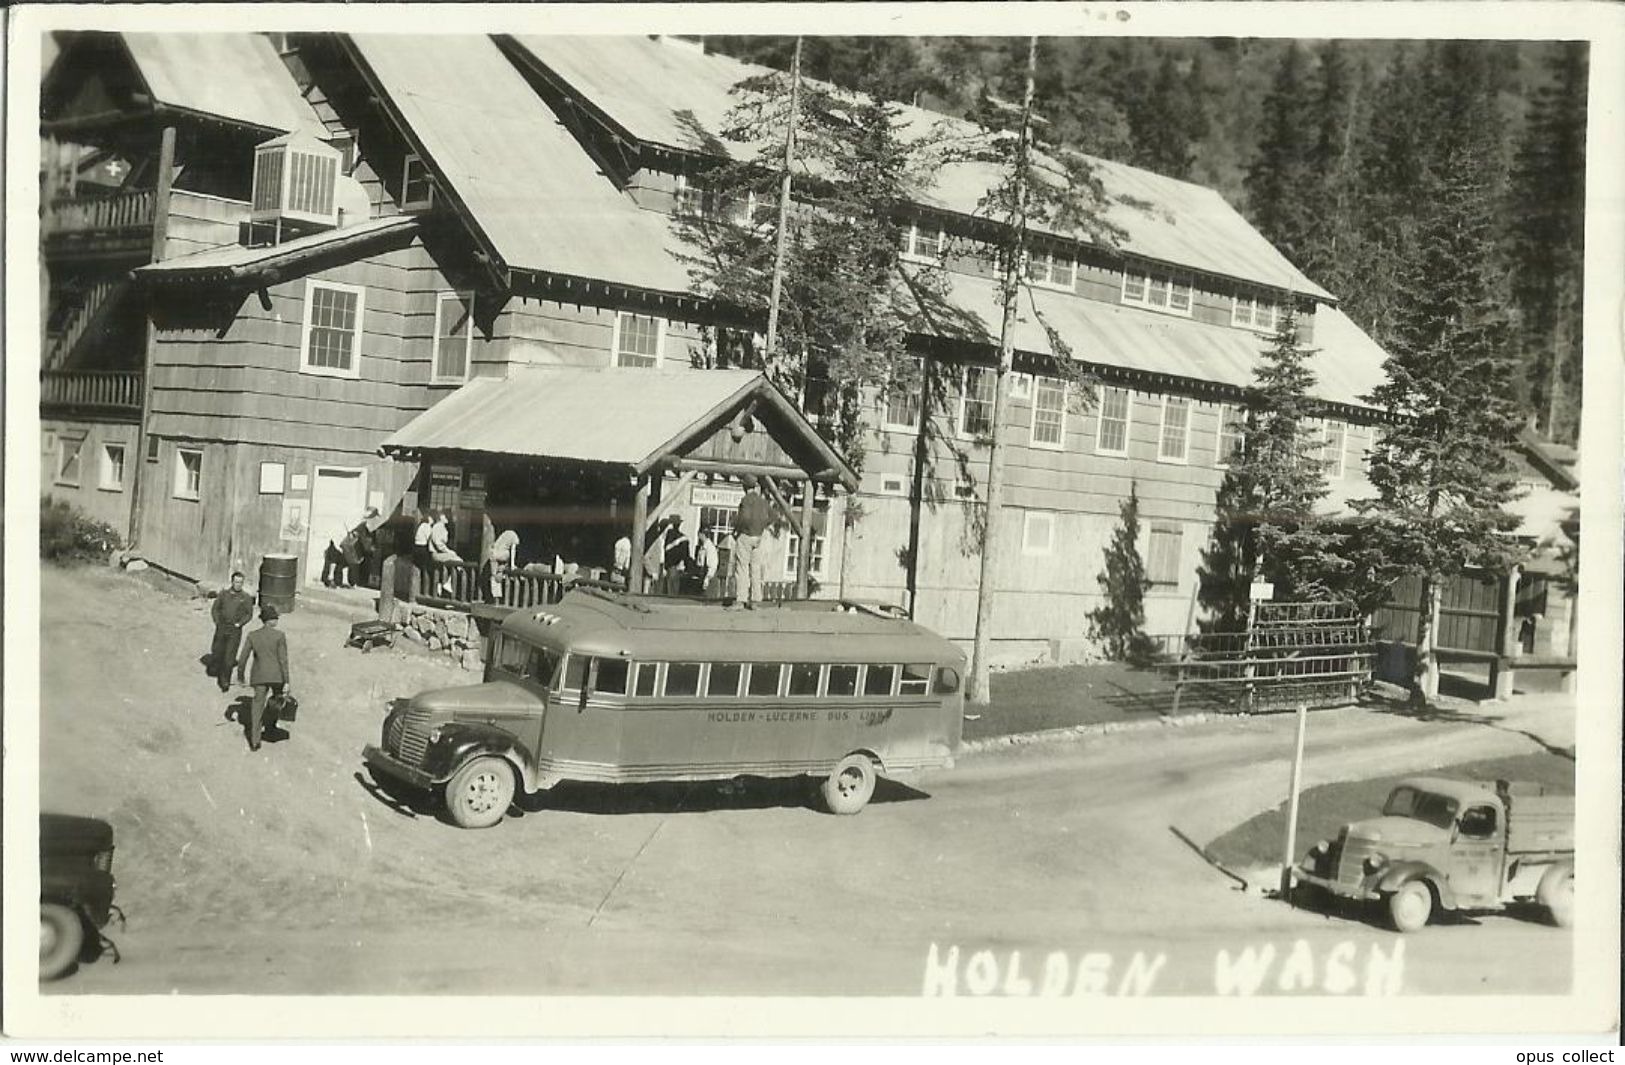
[[[978,706],[990,701],[991,672],[988,654],[993,642],[993,595],[996,592],[1001,535],[999,517],[1004,504],[1004,406],[1008,403],[1011,366],[1016,354],[1016,296],[1020,270],[1027,257],[1027,154],[1032,150],[1032,94],[1038,72],[1038,37],[1027,41],[1027,86],[1022,89],[1020,120],[1016,128],[1016,244],[1004,257],[1004,319],[999,325],[999,364],[993,376],[993,441],[988,447],[988,502],[982,530],[982,580],[977,585],[977,632],[970,652],[970,683],[965,698]]]

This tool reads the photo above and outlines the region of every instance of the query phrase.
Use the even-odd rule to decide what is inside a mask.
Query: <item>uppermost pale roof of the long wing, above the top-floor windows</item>
[[[743,78],[770,73],[767,67],[650,37],[520,34],[514,41],[629,137],[686,151],[699,150],[691,122],[717,135],[734,102],[728,89]],[[907,130],[915,135],[923,137],[933,127],[960,138],[982,135],[968,122],[921,107],[899,107]],[[734,156],[754,153],[749,145],[725,146]],[[1121,163],[1087,159],[1113,200],[1108,221],[1128,233],[1120,250],[1332,299],[1216,190]],[[923,202],[975,215],[978,202],[998,180],[993,164],[954,163],[939,169]],[[1133,206],[1134,202],[1146,206]]]

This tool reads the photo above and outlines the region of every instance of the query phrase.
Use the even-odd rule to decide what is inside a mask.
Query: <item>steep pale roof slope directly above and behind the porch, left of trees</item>
[[[645,211],[484,36],[353,34],[427,166],[502,262],[687,293],[665,215]]]

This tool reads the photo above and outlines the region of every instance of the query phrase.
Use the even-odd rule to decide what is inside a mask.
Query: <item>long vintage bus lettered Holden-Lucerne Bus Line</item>
[[[886,608],[578,587],[500,619],[484,683],[396,701],[362,758],[380,782],[444,790],[463,828],[559,780],[812,776],[847,815],[879,774],[954,764],[964,676],[962,650]]]

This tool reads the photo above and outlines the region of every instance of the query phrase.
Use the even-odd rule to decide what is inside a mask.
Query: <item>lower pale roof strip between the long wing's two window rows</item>
[[[949,275],[951,299],[970,319],[938,320],[939,335],[998,343],[998,285],[985,278]],[[1030,298],[1027,296],[1030,291]],[[1024,289],[1016,319],[1016,346],[1051,354],[1038,314],[1071,346],[1072,358],[1146,374],[1167,374],[1237,389],[1253,385],[1253,372],[1269,338],[1230,325],[1209,325],[1173,314],[1079,299],[1066,293]],[[1318,351],[1311,359],[1311,395],[1329,403],[1370,406],[1360,397],[1383,382],[1383,350],[1349,317],[1328,306],[1315,311]]]

